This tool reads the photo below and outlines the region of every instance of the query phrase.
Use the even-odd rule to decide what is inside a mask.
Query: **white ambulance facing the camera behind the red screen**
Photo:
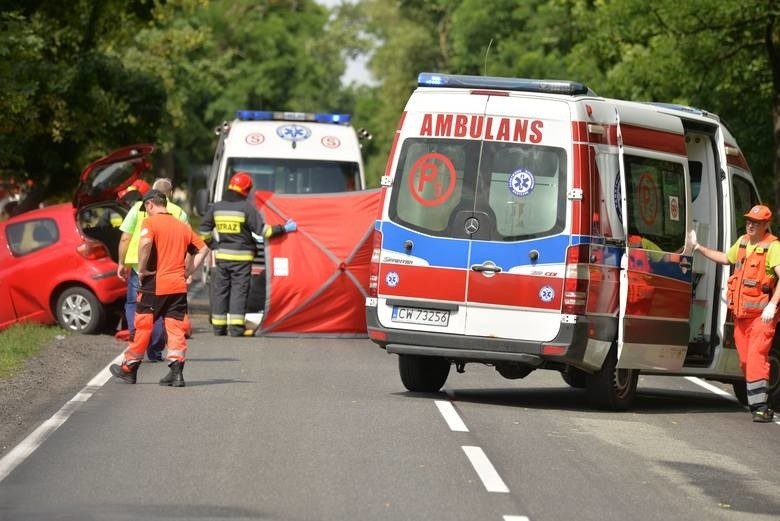
[[[349,114],[237,111],[235,119],[215,129],[219,141],[206,188],[196,194],[198,213],[204,215],[209,204],[222,199],[239,171],[252,176],[250,201],[256,191],[321,194],[365,189],[360,141],[371,135],[356,131],[350,120]],[[261,248],[252,267],[248,313],[263,307],[264,265]]]

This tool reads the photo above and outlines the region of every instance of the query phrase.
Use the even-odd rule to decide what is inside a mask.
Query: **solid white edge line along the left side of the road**
[[[70,415],[76,412],[81,405],[89,400],[102,386],[111,378],[111,372],[108,370],[111,364],[122,362],[123,354],[120,353],[107,366],[95,375],[92,380],[68,403],[54,413],[54,416],[43,422],[33,432],[30,433],[19,445],[11,449],[2,459],[0,459],[0,481],[3,481],[17,466],[26,460],[35,450],[40,447],[46,438],[51,436],[54,431],[60,428]]]

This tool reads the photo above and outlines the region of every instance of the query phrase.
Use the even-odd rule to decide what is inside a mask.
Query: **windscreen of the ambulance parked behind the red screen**
[[[229,159],[226,178],[229,179],[239,171],[249,172],[252,175],[254,190],[283,194],[352,192],[360,184],[358,164],[347,161]]]

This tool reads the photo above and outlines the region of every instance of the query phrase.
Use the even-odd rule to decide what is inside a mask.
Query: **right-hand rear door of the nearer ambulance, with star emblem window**
[[[569,245],[569,104],[488,96],[484,125],[473,207],[454,219],[472,238],[465,333],[550,341],[561,327]]]

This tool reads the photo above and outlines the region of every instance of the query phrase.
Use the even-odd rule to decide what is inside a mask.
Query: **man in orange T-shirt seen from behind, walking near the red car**
[[[168,375],[160,385],[184,387],[185,353],[187,352],[187,278],[198,269],[209,249],[192,229],[168,213],[168,200],[158,190],[143,198],[148,217],[141,227],[138,244],[138,302],[135,314],[135,336],[124,353],[121,365],[112,364],[111,374],[134,384],[152,326],[164,318],[168,335],[170,360]],[[187,255],[193,255],[186,263]]]

